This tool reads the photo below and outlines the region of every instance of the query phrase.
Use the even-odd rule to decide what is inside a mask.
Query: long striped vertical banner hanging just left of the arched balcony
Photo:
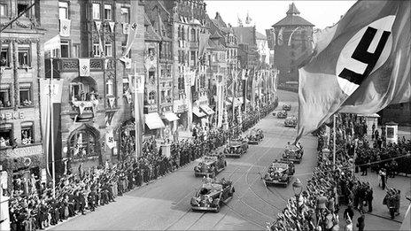
[[[50,80],[48,79],[40,79],[40,113],[41,113],[41,124],[42,124],[42,135],[43,135],[43,150],[47,161],[46,168],[47,173],[50,174],[50,136],[54,136],[54,153],[55,159],[61,159],[61,139],[58,139],[60,133],[60,123],[55,122],[53,123],[54,126],[51,129],[50,121],[53,119],[54,121],[60,120],[60,104],[61,104],[61,93],[63,90],[63,83],[62,80],[53,80],[50,85]],[[51,92],[51,95],[50,95]],[[53,106],[53,118],[51,118],[51,111],[50,111],[50,104]],[[57,150],[57,151],[56,151]],[[56,167],[58,169],[58,167]]]

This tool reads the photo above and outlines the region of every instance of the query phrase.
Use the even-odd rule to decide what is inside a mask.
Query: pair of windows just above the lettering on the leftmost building
[[[19,106],[29,107],[33,106],[31,83],[19,83]],[[12,95],[10,84],[0,85],[0,108],[12,107]]]

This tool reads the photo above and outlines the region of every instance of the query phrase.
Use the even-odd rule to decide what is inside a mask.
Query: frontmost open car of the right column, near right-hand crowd
[[[277,160],[268,166],[268,172],[264,175],[266,185],[283,185],[287,187],[295,173],[292,161]]]

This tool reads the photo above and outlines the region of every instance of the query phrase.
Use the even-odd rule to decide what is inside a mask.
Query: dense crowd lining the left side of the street
[[[93,212],[98,206],[114,202],[117,196],[221,147],[232,135],[236,135],[232,128],[198,129],[193,139],[171,142],[169,157],[158,150],[156,140],[151,137],[143,142],[142,155],[138,158],[133,158],[136,139],[127,135],[122,137],[120,150],[124,158],[119,163],[106,161],[104,166],[89,170],[80,165],[75,171],[67,166],[56,185],[55,196],[51,184],[39,184],[34,176],[28,181],[22,179],[16,182],[17,187],[6,193],[10,196],[11,230],[44,229],[77,214]]]

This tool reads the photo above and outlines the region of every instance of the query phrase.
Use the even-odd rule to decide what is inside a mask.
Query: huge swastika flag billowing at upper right
[[[299,137],[335,112],[370,114],[410,101],[410,1],[360,1],[314,35],[299,69]]]

